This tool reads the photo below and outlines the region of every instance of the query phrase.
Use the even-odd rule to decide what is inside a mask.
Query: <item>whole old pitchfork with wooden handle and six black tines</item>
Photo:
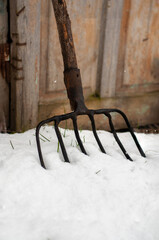
[[[82,89],[82,82],[81,82],[81,75],[80,75],[80,70],[78,69],[77,66],[77,60],[76,60],[76,54],[75,54],[75,48],[74,48],[74,42],[73,42],[73,37],[72,37],[72,31],[71,31],[71,21],[67,12],[67,6],[65,0],[52,0],[53,3],[53,8],[54,8],[54,13],[55,13],[55,18],[56,18],[56,23],[57,23],[57,29],[59,33],[59,40],[61,44],[61,50],[62,50],[62,56],[63,56],[63,62],[64,62],[64,82],[65,86],[67,89],[67,95],[70,101],[71,109],[72,112],[63,114],[63,115],[58,115],[58,116],[53,116],[51,118],[48,118],[44,121],[41,121],[37,128],[36,128],[36,141],[37,141],[37,148],[38,148],[38,153],[39,153],[39,158],[40,158],[40,163],[41,166],[45,168],[44,160],[43,160],[43,155],[41,151],[41,145],[40,145],[40,137],[39,137],[39,131],[41,126],[44,124],[54,122],[54,127],[55,127],[55,132],[63,153],[63,157],[65,162],[69,162],[69,158],[66,152],[66,148],[64,146],[64,142],[61,136],[61,133],[59,131],[59,123],[61,121],[71,119],[73,123],[73,128],[74,128],[74,133],[77,139],[77,142],[79,144],[79,147],[81,151],[84,154],[87,154],[83,143],[80,139],[79,132],[78,132],[78,126],[77,126],[77,117],[79,115],[87,115],[90,119],[92,130],[94,137],[97,141],[97,144],[100,148],[100,150],[103,153],[106,153],[96,131],[96,126],[95,126],[95,120],[94,120],[94,115],[96,114],[103,114],[105,115],[108,120],[109,120],[109,125],[111,132],[114,135],[114,138],[116,142],[118,143],[119,147],[121,148],[123,154],[127,159],[130,161],[133,161],[127,151],[125,150],[123,144],[121,143],[116,130],[114,128],[114,124],[112,122],[112,117],[111,113],[119,113],[122,118],[124,119],[128,131],[130,132],[132,138],[134,139],[134,142],[141,154],[141,156],[146,157],[145,153],[143,152],[134,132],[133,129],[128,121],[128,118],[126,115],[119,109],[88,109],[85,106],[84,103],[84,97],[83,97],[83,89]]]

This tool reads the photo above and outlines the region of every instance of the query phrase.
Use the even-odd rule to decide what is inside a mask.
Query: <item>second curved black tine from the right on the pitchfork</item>
[[[119,139],[119,137],[118,137],[118,135],[117,135],[117,133],[116,133],[116,131],[115,131],[115,128],[114,128],[114,125],[113,125],[113,122],[112,122],[111,115],[110,115],[109,113],[105,113],[105,116],[108,117],[108,119],[109,119],[109,125],[110,125],[110,128],[111,128],[111,131],[112,131],[112,133],[113,133],[113,135],[114,135],[114,138],[115,138],[115,140],[117,141],[119,147],[121,148],[122,152],[124,153],[125,157],[126,157],[127,159],[129,159],[130,161],[133,161],[133,160],[131,159],[131,157],[129,156],[129,154],[126,152],[123,144],[121,143],[121,141],[120,141],[120,139]]]

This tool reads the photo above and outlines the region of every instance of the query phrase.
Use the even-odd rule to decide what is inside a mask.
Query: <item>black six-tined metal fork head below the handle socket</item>
[[[109,120],[109,125],[110,125],[110,129],[111,129],[111,132],[113,133],[114,135],[114,138],[116,140],[116,142],[118,143],[120,149],[122,150],[123,154],[125,155],[125,157],[132,161],[131,157],[129,156],[129,154],[127,153],[127,151],[125,150],[123,144],[121,143],[117,133],[116,133],[116,130],[114,128],[114,124],[113,124],[113,121],[112,121],[112,117],[111,117],[111,113],[113,112],[116,112],[116,113],[119,113],[122,118],[124,119],[126,125],[127,125],[127,128],[128,128],[128,131],[130,132],[141,156],[145,157],[145,153],[143,152],[134,132],[133,132],[133,129],[126,117],[126,115],[118,110],[118,109],[98,109],[98,110],[89,110],[85,107],[85,109],[83,109],[83,111],[79,111],[78,109],[74,112],[71,112],[71,113],[68,113],[68,114],[63,114],[63,115],[59,115],[59,116],[54,116],[54,117],[51,117],[49,119],[46,119],[42,122],[40,122],[36,128],[36,141],[37,141],[37,148],[38,148],[38,153],[39,153],[39,158],[40,158],[40,163],[41,163],[41,166],[45,168],[45,164],[44,164],[44,160],[43,160],[43,155],[42,155],[42,151],[41,151],[41,145],[40,145],[40,137],[39,137],[39,131],[40,131],[40,128],[41,126],[43,126],[44,124],[47,124],[47,123],[51,123],[51,122],[54,122],[54,127],[55,127],[55,132],[56,132],[56,135],[57,135],[57,138],[58,138],[58,141],[59,141],[59,144],[61,146],[61,150],[62,150],[62,154],[63,154],[63,157],[64,157],[64,160],[65,162],[69,162],[69,158],[68,158],[68,155],[67,155],[67,152],[66,152],[66,148],[65,148],[65,145],[64,145],[64,142],[63,142],[63,139],[62,139],[62,136],[61,136],[61,133],[59,131],[59,123],[61,121],[64,121],[64,120],[68,120],[68,119],[71,119],[72,120],[72,123],[73,123],[73,128],[74,128],[74,133],[75,133],[75,137],[77,139],[77,142],[80,146],[80,149],[81,151],[84,153],[84,154],[87,154],[84,146],[83,146],[83,143],[80,139],[80,136],[79,136],[79,132],[78,132],[78,126],[77,126],[77,116],[78,115],[87,115],[91,121],[91,126],[92,126],[92,131],[93,131],[93,134],[94,134],[94,137],[97,141],[97,144],[100,148],[100,150],[103,152],[103,153],[106,153],[99,137],[98,137],[98,134],[97,134],[97,131],[96,131],[96,126],[95,126],[95,120],[94,120],[94,116],[96,114],[103,114],[105,115],[108,120]]]

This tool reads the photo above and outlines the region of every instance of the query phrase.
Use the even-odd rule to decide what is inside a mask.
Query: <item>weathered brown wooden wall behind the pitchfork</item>
[[[120,108],[133,125],[158,122],[158,1],[66,2],[87,106]],[[70,108],[51,0],[10,0],[10,9],[12,129],[22,131]]]

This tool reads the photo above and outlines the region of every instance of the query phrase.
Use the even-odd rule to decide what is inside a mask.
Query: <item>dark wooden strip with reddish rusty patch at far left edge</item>
[[[7,61],[9,50],[7,0],[0,0],[0,132],[9,124],[9,85],[7,82]]]

